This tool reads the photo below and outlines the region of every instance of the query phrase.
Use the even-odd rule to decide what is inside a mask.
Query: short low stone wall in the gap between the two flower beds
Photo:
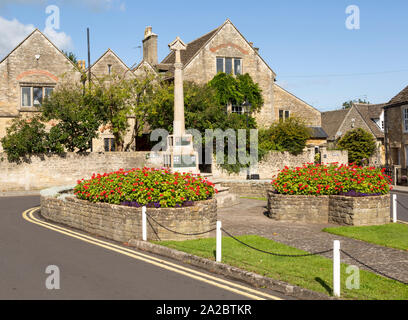
[[[266,198],[267,191],[271,187],[271,180],[221,181],[220,184],[222,187],[229,188],[231,193],[241,197]]]

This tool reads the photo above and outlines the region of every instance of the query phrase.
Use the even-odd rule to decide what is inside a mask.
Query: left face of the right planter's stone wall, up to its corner
[[[269,190],[268,216],[280,221],[327,224],[329,197],[289,196]]]

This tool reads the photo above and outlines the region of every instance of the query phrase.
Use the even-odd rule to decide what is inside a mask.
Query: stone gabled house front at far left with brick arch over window
[[[34,30],[0,61],[0,138],[14,118],[38,112],[43,98],[63,79],[80,78],[78,68],[41,31]]]

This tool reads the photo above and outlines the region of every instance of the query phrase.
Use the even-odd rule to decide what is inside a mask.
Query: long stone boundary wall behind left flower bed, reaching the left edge
[[[159,162],[146,160],[148,152],[65,153],[52,156],[32,156],[21,164],[8,162],[0,154],[0,192],[41,190],[75,184],[93,173],[116,171],[121,168],[160,167]]]

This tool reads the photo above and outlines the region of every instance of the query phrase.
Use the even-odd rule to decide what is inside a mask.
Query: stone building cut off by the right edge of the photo
[[[408,87],[385,107],[387,165],[408,167]]]

